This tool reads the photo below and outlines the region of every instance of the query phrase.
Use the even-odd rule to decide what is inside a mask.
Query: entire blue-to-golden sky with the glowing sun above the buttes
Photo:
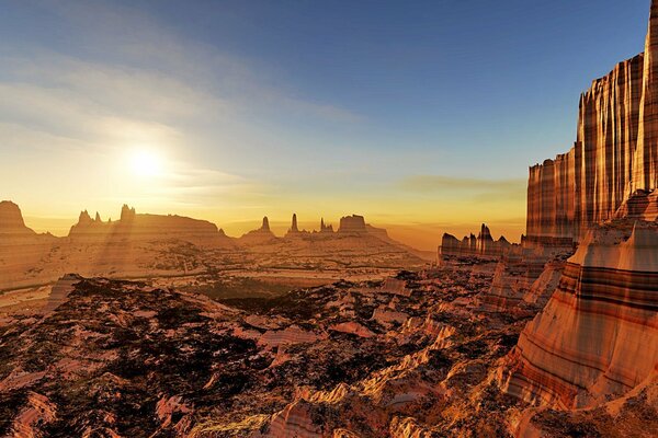
[[[527,166],[566,152],[591,80],[643,50],[649,0],[7,1],[0,198],[229,235],[361,214],[431,250],[518,241]]]

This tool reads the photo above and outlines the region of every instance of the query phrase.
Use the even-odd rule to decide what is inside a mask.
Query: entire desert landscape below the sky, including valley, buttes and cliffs
[[[1,201],[0,436],[658,436],[658,1],[578,114],[524,235],[436,252],[359,214],[55,237]]]

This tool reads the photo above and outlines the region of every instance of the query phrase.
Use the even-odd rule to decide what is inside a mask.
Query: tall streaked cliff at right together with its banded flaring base
[[[555,288],[500,369],[532,404],[597,407],[656,380],[657,50],[653,1],[645,53],[581,96],[574,148],[530,169],[526,250],[578,244],[523,296],[541,304]]]

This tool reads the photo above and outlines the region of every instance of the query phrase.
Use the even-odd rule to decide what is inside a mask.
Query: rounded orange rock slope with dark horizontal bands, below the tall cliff
[[[540,405],[587,407],[638,385],[658,364],[658,224],[590,230],[501,374]]]

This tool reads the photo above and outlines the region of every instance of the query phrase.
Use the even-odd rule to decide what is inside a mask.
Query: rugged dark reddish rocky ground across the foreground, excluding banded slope
[[[653,384],[614,413],[536,410],[500,390],[534,313],[483,310],[495,267],[291,291],[69,276],[32,291],[35,306],[2,296],[0,435],[504,437],[524,422],[546,437],[658,435]]]

